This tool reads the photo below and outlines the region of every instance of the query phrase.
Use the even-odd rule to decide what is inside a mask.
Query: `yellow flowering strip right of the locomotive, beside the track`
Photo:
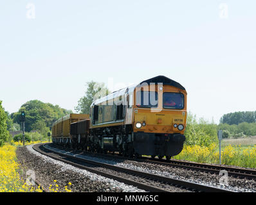
[[[215,143],[208,147],[185,145],[183,151],[174,156],[174,159],[218,164],[219,147]],[[256,145],[246,148],[241,147],[241,145],[222,147],[221,163],[223,165],[256,168]]]

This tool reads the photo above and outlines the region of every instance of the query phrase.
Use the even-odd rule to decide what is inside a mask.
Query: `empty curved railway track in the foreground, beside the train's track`
[[[87,160],[81,158],[78,154],[67,154],[63,151],[54,151],[52,148],[46,147],[42,144],[33,145],[33,149],[55,160],[63,161],[64,163],[68,163],[74,167],[82,168],[89,172],[136,186],[148,192],[182,192],[182,190],[183,192],[232,192],[230,190],[207,186],[205,184],[172,179],[169,177],[131,170],[129,168],[117,167],[107,163]]]

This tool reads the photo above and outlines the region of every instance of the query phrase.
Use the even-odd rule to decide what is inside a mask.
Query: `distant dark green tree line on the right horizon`
[[[221,124],[240,124],[242,122],[253,123],[256,122],[256,111],[236,111],[228,113],[221,117]]]

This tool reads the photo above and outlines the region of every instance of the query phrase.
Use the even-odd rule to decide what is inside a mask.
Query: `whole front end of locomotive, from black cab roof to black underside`
[[[169,78],[158,76],[137,86],[134,96],[134,151],[159,158],[179,154],[185,142],[185,88]]]

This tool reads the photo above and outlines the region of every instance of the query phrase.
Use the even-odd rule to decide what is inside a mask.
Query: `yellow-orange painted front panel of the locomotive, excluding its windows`
[[[142,108],[136,103],[134,99],[133,109],[133,129],[134,133],[143,131],[144,133],[180,133],[184,134],[186,120],[187,120],[187,92],[179,88],[174,88],[170,85],[156,86],[149,88],[149,86],[142,86],[141,89],[134,95],[138,96],[140,90],[149,90],[149,92],[158,93],[158,104],[154,108]],[[145,91],[144,91],[145,92]],[[164,108],[163,94],[181,94],[183,96],[182,108]],[[137,101],[138,102],[138,101]],[[139,123],[139,124],[138,124]],[[138,124],[138,126],[136,126]],[[140,124],[142,126],[140,126]],[[178,129],[180,127],[180,129]]]

